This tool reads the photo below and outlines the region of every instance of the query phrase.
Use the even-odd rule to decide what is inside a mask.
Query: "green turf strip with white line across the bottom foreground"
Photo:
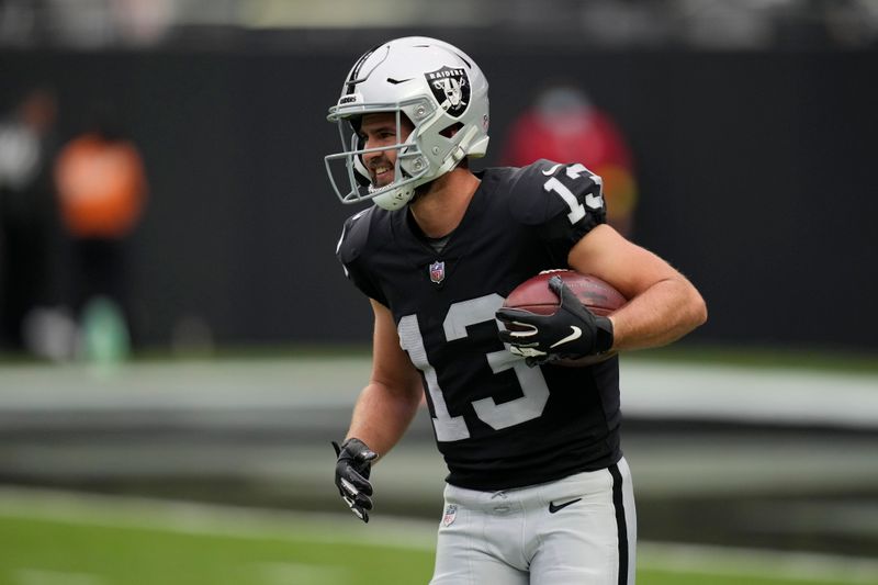
[[[0,493],[1,585],[420,584],[432,543],[420,522]],[[645,543],[638,582],[878,584],[878,563],[751,552]]]

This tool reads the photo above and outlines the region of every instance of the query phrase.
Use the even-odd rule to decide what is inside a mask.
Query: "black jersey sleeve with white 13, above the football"
[[[510,205],[559,262],[566,262],[576,243],[607,222],[603,180],[578,162],[538,160],[521,168]]]

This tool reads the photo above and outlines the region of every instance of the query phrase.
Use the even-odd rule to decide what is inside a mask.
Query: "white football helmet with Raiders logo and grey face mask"
[[[404,143],[362,148],[364,114],[394,112],[402,138],[405,115],[415,130]],[[351,68],[327,120],[338,123],[344,151],[325,157],[329,182],[342,203],[374,200],[385,210],[408,203],[415,189],[487,149],[487,80],[465,53],[426,36],[395,38],[367,52]],[[455,133],[447,132],[455,127]],[[393,182],[371,184],[362,155],[397,150]],[[344,166],[340,165],[344,161]],[[347,182],[347,193],[339,183]]]

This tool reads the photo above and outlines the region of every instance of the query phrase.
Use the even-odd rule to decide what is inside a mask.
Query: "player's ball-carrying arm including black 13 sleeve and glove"
[[[544,241],[566,254],[570,268],[605,280],[630,302],[611,318],[601,317],[585,308],[561,279],[550,279],[548,285],[560,301],[553,314],[497,312],[506,325],[500,339],[513,353],[537,364],[655,347],[705,322],[705,302],[683,274],[605,224],[599,177],[582,165],[540,165],[541,172],[534,176],[544,181],[542,189],[519,181],[515,212],[542,226]],[[549,199],[534,198],[534,193]]]

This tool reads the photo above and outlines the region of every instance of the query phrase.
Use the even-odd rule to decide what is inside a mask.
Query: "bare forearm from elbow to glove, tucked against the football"
[[[707,307],[695,286],[680,277],[655,283],[610,319],[614,349],[644,349],[688,334],[707,320]]]

